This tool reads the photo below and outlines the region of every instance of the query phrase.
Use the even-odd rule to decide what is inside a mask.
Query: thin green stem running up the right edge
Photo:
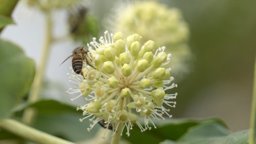
[[[254,66],[254,82],[253,82],[253,100],[251,104],[251,124],[249,134],[249,144],[256,143],[256,57]]]

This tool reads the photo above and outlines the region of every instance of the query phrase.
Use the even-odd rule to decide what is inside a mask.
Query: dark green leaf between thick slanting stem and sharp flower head
[[[91,122],[89,120],[79,122],[79,118],[84,117],[82,111],[77,111],[76,107],[55,100],[40,100],[30,107],[37,112],[34,128],[69,141],[90,139],[99,128],[96,126],[88,132],[87,128]]]

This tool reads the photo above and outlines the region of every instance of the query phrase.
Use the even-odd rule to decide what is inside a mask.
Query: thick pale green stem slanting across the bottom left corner
[[[15,135],[19,135],[20,137],[24,137],[37,143],[73,144],[70,141],[38,131],[37,129],[28,127],[21,122],[9,118],[1,120],[0,127],[5,129],[5,131],[9,131]]]

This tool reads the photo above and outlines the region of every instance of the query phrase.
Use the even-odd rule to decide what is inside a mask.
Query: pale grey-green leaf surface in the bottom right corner
[[[211,131],[209,129],[209,131]],[[247,144],[249,131],[239,131],[222,137],[201,137],[201,139],[187,139],[187,141],[165,140],[161,144]],[[199,137],[199,136],[197,136]]]

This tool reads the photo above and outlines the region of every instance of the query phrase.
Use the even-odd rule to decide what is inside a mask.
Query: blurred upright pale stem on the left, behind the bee
[[[28,96],[28,102],[31,104],[36,102],[40,98],[39,94],[40,94],[40,88],[42,85],[42,77],[44,74],[44,69],[46,67],[46,61],[49,56],[51,42],[53,41],[53,35],[51,33],[53,28],[51,9],[46,9],[46,11],[44,11],[44,14],[46,18],[46,34],[44,38],[45,42],[42,48],[42,56],[40,59],[40,63],[38,65],[38,69],[36,69],[36,75],[34,76],[34,81],[32,83],[30,94]],[[36,115],[36,111],[34,109],[27,108],[24,111],[24,116],[22,121],[25,124],[32,124],[35,115]]]

